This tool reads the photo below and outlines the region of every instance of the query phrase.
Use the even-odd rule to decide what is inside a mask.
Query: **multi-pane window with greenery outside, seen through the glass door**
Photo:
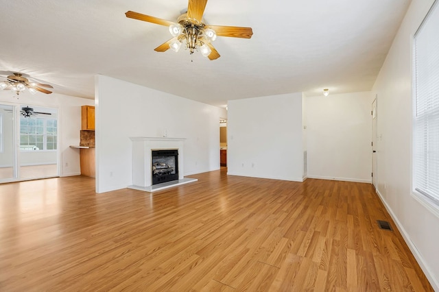
[[[56,119],[26,118],[20,119],[21,151],[56,150]]]

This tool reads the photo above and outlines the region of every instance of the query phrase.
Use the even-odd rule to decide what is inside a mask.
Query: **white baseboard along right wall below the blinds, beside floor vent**
[[[427,263],[425,263],[423,256],[421,256],[421,254],[419,253],[418,249],[416,248],[416,245],[414,245],[413,241],[410,239],[409,234],[407,234],[407,232],[405,231],[405,228],[403,227],[401,222],[398,220],[398,218],[396,217],[396,215],[392,211],[392,208],[390,208],[390,206],[387,204],[387,202],[385,202],[384,197],[381,195],[381,193],[378,191],[378,189],[376,191],[377,191],[379,199],[381,199],[381,202],[383,202],[385,210],[387,210],[389,212],[390,217],[392,217],[394,223],[396,224],[396,227],[398,228],[399,232],[403,236],[405,243],[407,243],[407,246],[410,248],[410,251],[412,252],[414,257],[416,258],[416,261],[418,262],[420,268],[425,273],[425,276],[429,280],[434,291],[439,291],[439,281],[436,278],[434,278],[433,273],[431,273]]]

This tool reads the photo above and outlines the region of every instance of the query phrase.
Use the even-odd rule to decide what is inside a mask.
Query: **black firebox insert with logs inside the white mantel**
[[[178,149],[151,150],[152,184],[178,180]]]

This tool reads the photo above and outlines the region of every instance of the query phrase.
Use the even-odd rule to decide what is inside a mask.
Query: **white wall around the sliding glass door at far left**
[[[54,89],[56,92],[56,88]],[[58,109],[58,132],[60,151],[60,176],[79,175],[80,154],[79,149],[71,149],[70,145],[79,145],[81,130],[81,106],[93,106],[93,99],[71,97],[51,93],[21,93],[19,99],[10,90],[0,90],[0,103],[14,106],[42,106]]]

